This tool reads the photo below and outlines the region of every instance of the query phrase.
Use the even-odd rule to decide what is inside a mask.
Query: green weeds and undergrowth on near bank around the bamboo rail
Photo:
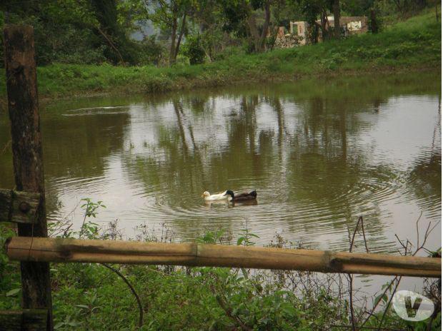
[[[86,202],[85,215],[95,216],[101,203],[89,199]],[[121,238],[116,223],[101,230],[95,223],[86,221],[78,232],[70,230],[70,225],[63,221],[51,223],[49,231],[51,235],[65,238]],[[14,231],[0,225],[2,247],[9,235],[14,235]],[[255,237],[245,228],[237,245],[254,245]],[[139,227],[135,239],[174,240],[167,228],[156,233],[146,225]],[[224,230],[205,233],[197,240],[234,244],[232,235]],[[269,246],[297,248],[279,235]],[[118,270],[131,283],[139,296],[140,306],[124,280],[109,268]],[[352,325],[346,275],[243,268],[52,263],[51,280],[55,330],[342,330]],[[434,320],[407,322],[392,308],[387,309],[385,306],[389,306],[387,302],[395,284],[388,282],[374,297],[373,305],[379,309],[369,308],[372,315],[368,315],[362,305],[354,305],[354,324],[375,329],[441,330],[440,312]],[[437,282],[429,282],[427,295],[431,292],[438,297]],[[19,297],[19,264],[9,263],[1,250],[0,310],[18,309]],[[353,300],[357,301],[355,294]],[[139,327],[140,312],[144,315],[142,327]]]

